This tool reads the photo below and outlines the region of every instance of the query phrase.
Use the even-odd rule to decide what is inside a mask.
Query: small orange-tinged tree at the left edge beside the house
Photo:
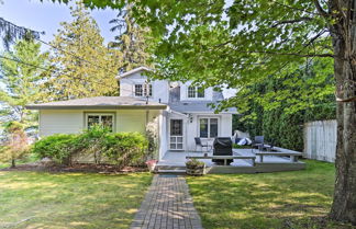
[[[10,122],[5,127],[7,140],[0,151],[1,161],[11,161],[11,167],[15,168],[15,160],[21,159],[29,151],[27,137],[23,129],[23,124]]]

